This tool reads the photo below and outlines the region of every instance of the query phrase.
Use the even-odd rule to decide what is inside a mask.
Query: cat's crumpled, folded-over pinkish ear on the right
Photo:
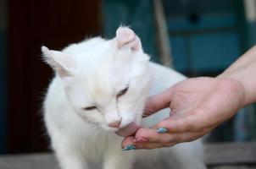
[[[129,47],[132,51],[138,51],[142,48],[140,39],[134,31],[128,27],[120,27],[117,29],[115,39],[119,48]]]

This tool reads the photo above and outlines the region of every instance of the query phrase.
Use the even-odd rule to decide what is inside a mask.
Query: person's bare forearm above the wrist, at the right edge
[[[256,46],[238,58],[218,78],[237,79],[241,82],[245,100],[243,106],[256,101]]]

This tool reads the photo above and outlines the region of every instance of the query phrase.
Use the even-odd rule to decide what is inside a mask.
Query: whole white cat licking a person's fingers
[[[109,41],[96,37],[62,52],[42,46],[42,52],[56,72],[44,101],[44,120],[63,169],[205,168],[200,141],[156,150],[121,149],[123,138],[114,132],[168,116],[165,110],[142,120],[144,102],[185,79],[150,63],[131,29],[120,27]]]

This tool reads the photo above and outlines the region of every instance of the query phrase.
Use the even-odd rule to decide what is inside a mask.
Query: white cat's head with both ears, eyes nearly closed
[[[140,123],[151,75],[149,57],[131,29],[120,27],[109,41],[93,38],[63,52],[42,46],[42,52],[86,122],[113,132]]]

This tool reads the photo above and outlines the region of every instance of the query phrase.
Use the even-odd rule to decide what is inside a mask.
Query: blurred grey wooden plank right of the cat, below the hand
[[[205,144],[206,163],[256,164],[256,142]]]

